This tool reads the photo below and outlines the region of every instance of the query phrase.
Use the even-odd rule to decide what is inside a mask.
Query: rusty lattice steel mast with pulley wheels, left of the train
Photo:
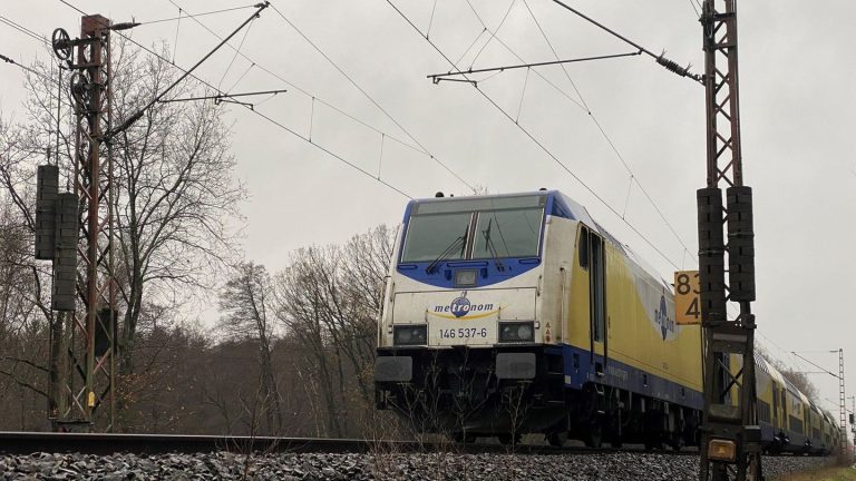
[[[111,431],[115,424],[115,193],[105,141],[111,117],[110,29],[108,19],[86,16],[79,39],[70,40],[62,29],[54,32],[54,50],[74,72],[70,89],[76,120],[74,193],[59,196],[71,203],[58,202],[55,210],[51,304],[65,317],[61,353],[51,360],[61,371],[51,413],[56,431],[89,431],[96,422],[99,431]]]

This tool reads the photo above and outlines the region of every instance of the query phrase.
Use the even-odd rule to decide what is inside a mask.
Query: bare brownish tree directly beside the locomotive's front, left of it
[[[335,435],[349,429],[353,415],[342,415],[340,408],[350,401],[349,389],[356,387],[363,406],[371,404],[377,320],[392,242],[392,233],[378,226],[343,247],[299,249],[276,275],[276,316],[315,360],[312,374]]]

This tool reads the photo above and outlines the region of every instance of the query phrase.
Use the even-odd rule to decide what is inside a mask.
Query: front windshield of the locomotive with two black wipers
[[[546,196],[416,204],[401,262],[536,257]]]

